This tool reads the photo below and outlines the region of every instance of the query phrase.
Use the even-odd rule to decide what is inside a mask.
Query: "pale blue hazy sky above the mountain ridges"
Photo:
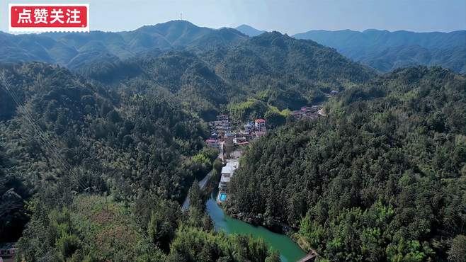
[[[8,30],[8,3],[89,3],[91,30],[134,30],[183,19],[210,28],[243,23],[289,35],[307,30],[466,29],[466,0],[0,0],[0,30]]]

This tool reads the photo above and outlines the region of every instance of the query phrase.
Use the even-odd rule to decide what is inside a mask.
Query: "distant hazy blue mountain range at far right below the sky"
[[[293,37],[333,47],[342,55],[381,72],[421,64],[466,73],[466,30],[450,33],[311,30]]]

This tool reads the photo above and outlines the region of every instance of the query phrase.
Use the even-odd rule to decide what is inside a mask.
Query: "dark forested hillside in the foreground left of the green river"
[[[23,236],[18,259],[276,261],[263,241],[213,232],[199,188],[181,213],[218,152],[170,93],[109,91],[40,63],[2,70],[0,241]]]

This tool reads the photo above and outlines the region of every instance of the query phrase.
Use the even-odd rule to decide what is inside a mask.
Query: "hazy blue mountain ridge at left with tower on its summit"
[[[112,68],[148,52],[205,50],[231,45],[247,38],[232,28],[212,29],[188,21],[146,25],[132,31],[90,33],[42,33],[11,35],[0,32],[1,62],[47,62],[69,69]]]

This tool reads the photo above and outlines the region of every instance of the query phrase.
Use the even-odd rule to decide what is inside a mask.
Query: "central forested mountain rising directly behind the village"
[[[87,76],[123,89],[160,86],[188,103],[203,118],[248,99],[279,110],[324,101],[375,77],[372,69],[309,40],[278,32],[217,45],[202,52],[171,51],[128,59],[118,67],[82,69]],[[142,84],[144,83],[144,84]]]

